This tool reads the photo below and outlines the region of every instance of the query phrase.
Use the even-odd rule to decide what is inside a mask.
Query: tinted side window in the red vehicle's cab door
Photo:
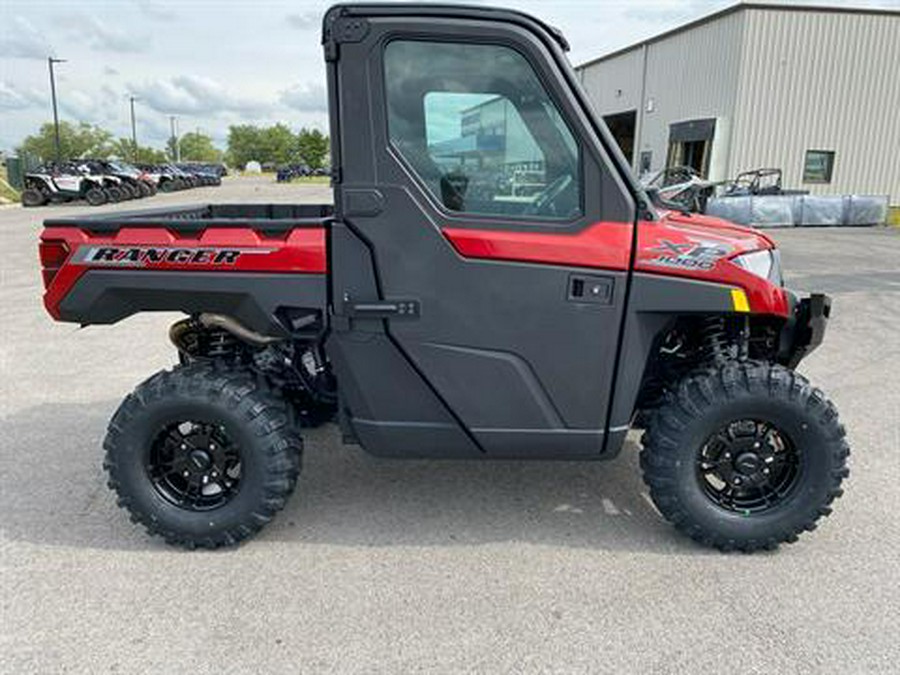
[[[581,213],[578,143],[521,54],[410,40],[391,42],[384,58],[391,143],[446,209]]]

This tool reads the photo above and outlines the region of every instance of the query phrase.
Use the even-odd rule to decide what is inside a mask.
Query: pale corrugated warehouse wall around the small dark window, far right
[[[784,170],[815,194],[900,202],[900,16],[748,9],[732,173]],[[803,184],[806,150],[833,150],[830,184]]]

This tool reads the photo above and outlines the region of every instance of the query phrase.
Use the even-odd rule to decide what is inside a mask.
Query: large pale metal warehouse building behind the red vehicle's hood
[[[900,11],[746,3],[578,68],[638,174],[781,168],[900,203]]]

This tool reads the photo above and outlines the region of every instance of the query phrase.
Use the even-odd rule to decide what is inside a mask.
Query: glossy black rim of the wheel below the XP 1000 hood
[[[729,422],[710,436],[697,457],[704,493],[727,511],[743,515],[777,507],[800,478],[800,453],[770,422]]]

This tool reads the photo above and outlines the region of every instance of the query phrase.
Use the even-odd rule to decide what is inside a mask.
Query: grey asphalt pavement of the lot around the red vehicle
[[[774,553],[721,554],[650,505],[636,437],[611,463],[399,461],[307,435],[256,539],[184,552],[118,509],[100,444],[171,366],[172,315],[78,329],[41,304],[50,214],[321,201],[232,179],[143,203],[0,209],[0,672],[896,673],[900,230],[779,230],[788,284],[834,297],[800,370],[853,454],[834,514]]]

